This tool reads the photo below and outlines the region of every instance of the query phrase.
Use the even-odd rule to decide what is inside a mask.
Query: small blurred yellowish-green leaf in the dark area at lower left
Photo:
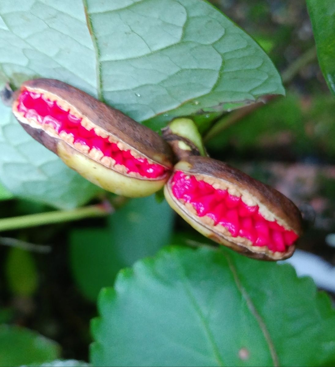
[[[32,296],[38,286],[38,273],[33,255],[21,248],[10,248],[6,259],[8,288],[18,296]]]

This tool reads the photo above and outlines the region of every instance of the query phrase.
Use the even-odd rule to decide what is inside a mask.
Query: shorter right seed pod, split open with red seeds
[[[215,159],[180,161],[164,193],[198,232],[249,257],[286,259],[301,234],[301,215],[291,200]]]

